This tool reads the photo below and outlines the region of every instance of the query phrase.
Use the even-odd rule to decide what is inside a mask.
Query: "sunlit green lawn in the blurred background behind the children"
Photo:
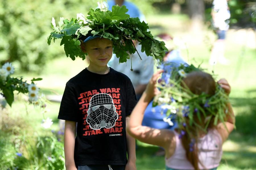
[[[255,46],[252,48],[255,37],[251,36],[248,30],[229,30],[225,56],[230,59],[231,64],[213,67],[208,65],[209,49],[215,38],[211,31],[204,30],[201,34],[203,39],[199,41],[198,37],[200,36],[189,32],[189,19],[186,15],[148,16],[147,22],[153,35],[169,32],[182,39],[187,48],[181,49],[181,53],[189,63],[195,65],[202,63],[202,67],[208,68],[208,72],[214,71],[218,79],[225,77],[229,81],[232,87],[230,100],[236,115],[236,130],[224,143],[222,161],[218,169],[256,169],[256,49]],[[33,77],[42,77],[43,80],[37,83],[46,95],[61,95],[65,83],[83,70],[86,65],[86,61],[82,61],[80,58],[72,61],[66,56],[61,56],[61,58],[47,63],[45,68],[42,68],[40,75],[33,73],[20,73],[20,75],[27,77],[27,80]],[[7,107],[10,116],[24,117],[36,131],[44,133],[45,130],[40,125],[43,118],[42,110],[25,104],[18,98],[15,100],[11,109]],[[54,102],[48,104],[49,112],[45,113],[46,117],[53,119],[52,129],[54,130],[58,130],[59,105]],[[138,142],[138,145],[138,170],[165,169],[164,157],[154,156],[158,147],[141,142]]]

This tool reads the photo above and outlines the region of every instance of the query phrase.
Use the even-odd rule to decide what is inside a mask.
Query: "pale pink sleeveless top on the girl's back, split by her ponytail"
[[[174,154],[165,159],[167,167],[173,169],[194,169],[192,164],[186,159],[186,151],[182,146],[179,134],[174,131],[176,138],[176,149]],[[222,138],[216,129],[208,131],[207,135],[202,137],[198,143],[198,156],[202,166],[199,163],[200,169],[212,169],[219,166],[222,157]]]

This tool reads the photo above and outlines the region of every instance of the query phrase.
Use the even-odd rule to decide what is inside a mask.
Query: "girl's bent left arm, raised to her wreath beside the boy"
[[[144,116],[144,111],[148,106],[148,103],[152,100],[155,94],[159,93],[157,88],[155,87],[156,80],[163,72],[159,71],[152,76],[150,82],[147,85],[146,90],[141,96],[139,102],[133,109],[130,122],[127,126],[127,132],[134,138],[139,139],[142,142],[162,146],[165,150],[169,150],[174,139],[174,133],[170,130],[160,130],[154,129],[147,126],[142,126],[142,120]],[[159,113],[160,114],[160,113]]]

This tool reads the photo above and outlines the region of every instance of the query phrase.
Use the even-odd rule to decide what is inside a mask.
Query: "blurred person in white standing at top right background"
[[[225,38],[226,31],[229,28],[229,18],[230,11],[228,7],[229,0],[214,0],[212,3],[212,22],[215,32],[218,35],[218,39],[215,41],[211,56],[209,60],[210,65],[214,65],[216,63],[228,65],[230,61],[224,57],[225,52]]]

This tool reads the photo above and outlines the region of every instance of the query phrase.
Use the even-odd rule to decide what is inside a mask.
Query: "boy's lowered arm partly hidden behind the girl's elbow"
[[[125,118],[126,125],[129,124],[130,117]],[[125,170],[136,170],[136,152],[135,152],[135,138],[126,133],[127,147],[128,147],[128,162],[125,166]]]

